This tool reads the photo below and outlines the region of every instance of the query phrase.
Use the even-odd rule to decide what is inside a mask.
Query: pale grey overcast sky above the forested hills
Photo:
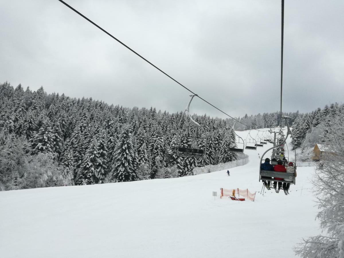
[[[232,116],[279,110],[281,1],[66,0]],[[344,1],[286,0],[283,111],[344,97]],[[0,0],[0,83],[183,110],[189,92],[57,0]],[[195,98],[191,112],[224,117]]]

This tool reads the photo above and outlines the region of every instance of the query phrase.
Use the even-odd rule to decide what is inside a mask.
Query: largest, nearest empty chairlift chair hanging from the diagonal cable
[[[191,99],[189,101],[189,103],[187,104],[183,116],[180,119],[179,125],[178,125],[178,130],[177,130],[177,142],[179,142],[178,146],[175,149],[175,153],[176,155],[179,155],[181,157],[191,157],[191,158],[200,158],[200,159],[205,159],[206,158],[206,150],[207,150],[207,143],[208,143],[208,134],[207,132],[204,130],[204,128],[197,123],[190,115],[190,104],[191,101],[193,99],[193,97],[195,97],[197,95],[193,94],[190,95]],[[183,136],[186,136],[187,138],[191,138],[190,142],[191,142],[191,146],[186,146],[185,144],[182,144],[182,137],[180,136],[180,126],[181,126],[181,122],[184,118],[185,112],[187,113],[187,116],[189,117],[190,121],[194,124],[194,125],[186,125],[184,127],[187,128],[187,130],[184,132]],[[204,133],[205,137],[201,136],[201,133]],[[178,136],[180,136],[179,140],[178,140]],[[198,147],[198,145],[195,145],[197,143],[195,143],[195,141],[192,141],[192,139],[203,139],[204,145],[202,148]]]

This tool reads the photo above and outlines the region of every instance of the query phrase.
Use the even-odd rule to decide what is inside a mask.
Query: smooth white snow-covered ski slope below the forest
[[[237,133],[245,139],[248,131]],[[249,163],[230,176],[224,170],[0,192],[0,256],[294,257],[302,237],[319,233],[309,183],[314,168],[298,168],[290,195],[272,189],[262,196],[258,153],[271,146],[245,150]],[[248,188],[256,199],[221,200],[220,187]]]

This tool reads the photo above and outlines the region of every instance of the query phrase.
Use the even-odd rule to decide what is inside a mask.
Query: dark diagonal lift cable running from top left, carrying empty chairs
[[[159,67],[157,67],[156,65],[152,64],[151,62],[149,62],[146,58],[144,58],[143,56],[141,56],[139,53],[137,53],[136,51],[134,51],[133,49],[131,49],[129,46],[127,46],[126,44],[124,44],[122,41],[120,41],[119,39],[117,39],[115,36],[111,35],[109,32],[107,32],[106,30],[104,30],[103,28],[101,28],[99,25],[97,25],[96,23],[94,23],[93,21],[91,21],[90,19],[88,19],[84,14],[80,13],[79,11],[77,11],[76,9],[74,9],[73,7],[71,7],[69,4],[67,4],[65,1],[63,0],[58,0],[61,3],[63,3],[66,7],[68,7],[69,9],[73,10],[74,12],[76,12],[77,14],[79,14],[81,17],[83,17],[85,20],[89,21],[90,23],[92,23],[93,25],[95,25],[99,30],[105,32],[106,34],[108,34],[110,37],[112,37],[112,39],[116,40],[118,43],[122,44],[123,46],[125,46],[127,49],[129,49],[131,52],[133,52],[134,54],[136,54],[137,56],[141,57],[144,61],[146,61],[147,63],[149,63],[151,66],[153,66],[154,68],[158,69],[160,72],[162,72],[164,75],[166,75],[167,77],[169,77],[170,79],[172,79],[174,82],[178,83],[180,86],[182,86],[184,89],[188,90],[189,92],[191,92],[193,95],[197,96],[198,98],[202,99],[205,103],[211,105],[212,107],[216,108],[218,111],[222,112],[223,114],[225,114],[226,116],[232,118],[233,120],[241,123],[242,125],[246,126],[249,128],[248,125],[245,125],[244,123],[240,122],[239,120],[235,119],[234,117],[228,115],[226,112],[222,111],[221,109],[215,107],[213,104],[209,103],[207,100],[205,100],[204,98],[198,96],[196,93],[194,93],[192,90],[190,90],[189,88],[185,87],[183,84],[181,84],[180,82],[178,82],[176,79],[172,78],[170,75],[168,75],[167,73],[165,73],[164,71],[162,71]],[[253,130],[257,130],[257,129],[253,129]],[[257,130],[259,131],[259,130]]]

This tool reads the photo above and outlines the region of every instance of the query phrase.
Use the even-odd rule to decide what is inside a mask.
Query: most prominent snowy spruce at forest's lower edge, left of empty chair
[[[125,127],[119,137],[112,157],[114,164],[112,165],[111,174],[115,182],[135,180],[134,156],[130,128]]]

